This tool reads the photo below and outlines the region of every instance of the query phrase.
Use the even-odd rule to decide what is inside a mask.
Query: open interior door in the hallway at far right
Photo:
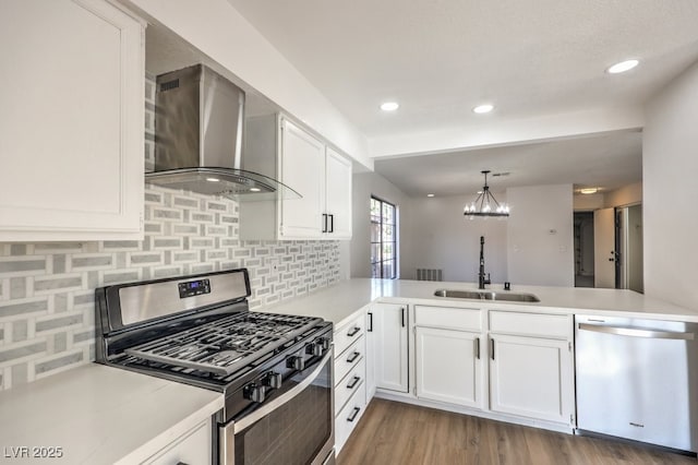
[[[615,212],[593,212],[593,287],[615,288]]]

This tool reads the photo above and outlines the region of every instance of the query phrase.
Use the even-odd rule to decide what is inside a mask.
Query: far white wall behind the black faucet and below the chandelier
[[[504,193],[494,195],[506,201]],[[416,266],[406,270],[404,277],[416,278],[417,267],[442,269],[444,281],[477,283],[480,236],[484,236],[485,272],[493,283],[507,281],[507,220],[466,218],[462,207],[471,200],[465,195],[411,200],[411,234],[418,247],[410,251]]]

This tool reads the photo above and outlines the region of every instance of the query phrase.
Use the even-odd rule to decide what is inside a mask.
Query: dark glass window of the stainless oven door
[[[236,465],[313,461],[332,436],[330,370],[332,359],[300,394],[236,434]]]

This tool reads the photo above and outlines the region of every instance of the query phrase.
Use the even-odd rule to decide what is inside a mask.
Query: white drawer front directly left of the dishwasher
[[[490,312],[492,333],[566,339],[573,330],[567,315],[544,313]]]

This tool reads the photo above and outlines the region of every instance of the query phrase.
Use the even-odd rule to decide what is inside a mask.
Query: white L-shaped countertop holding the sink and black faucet
[[[486,290],[506,293],[501,284],[486,287]],[[698,309],[677,307],[633,290],[513,285],[512,293],[534,294],[540,302],[434,297],[436,289],[477,290],[477,283],[354,278],[341,281],[308,296],[284,301],[260,311],[321,317],[335,323],[335,327],[345,324],[349,317],[372,301],[521,311],[545,308],[546,311],[565,314],[605,314],[698,322]]]

